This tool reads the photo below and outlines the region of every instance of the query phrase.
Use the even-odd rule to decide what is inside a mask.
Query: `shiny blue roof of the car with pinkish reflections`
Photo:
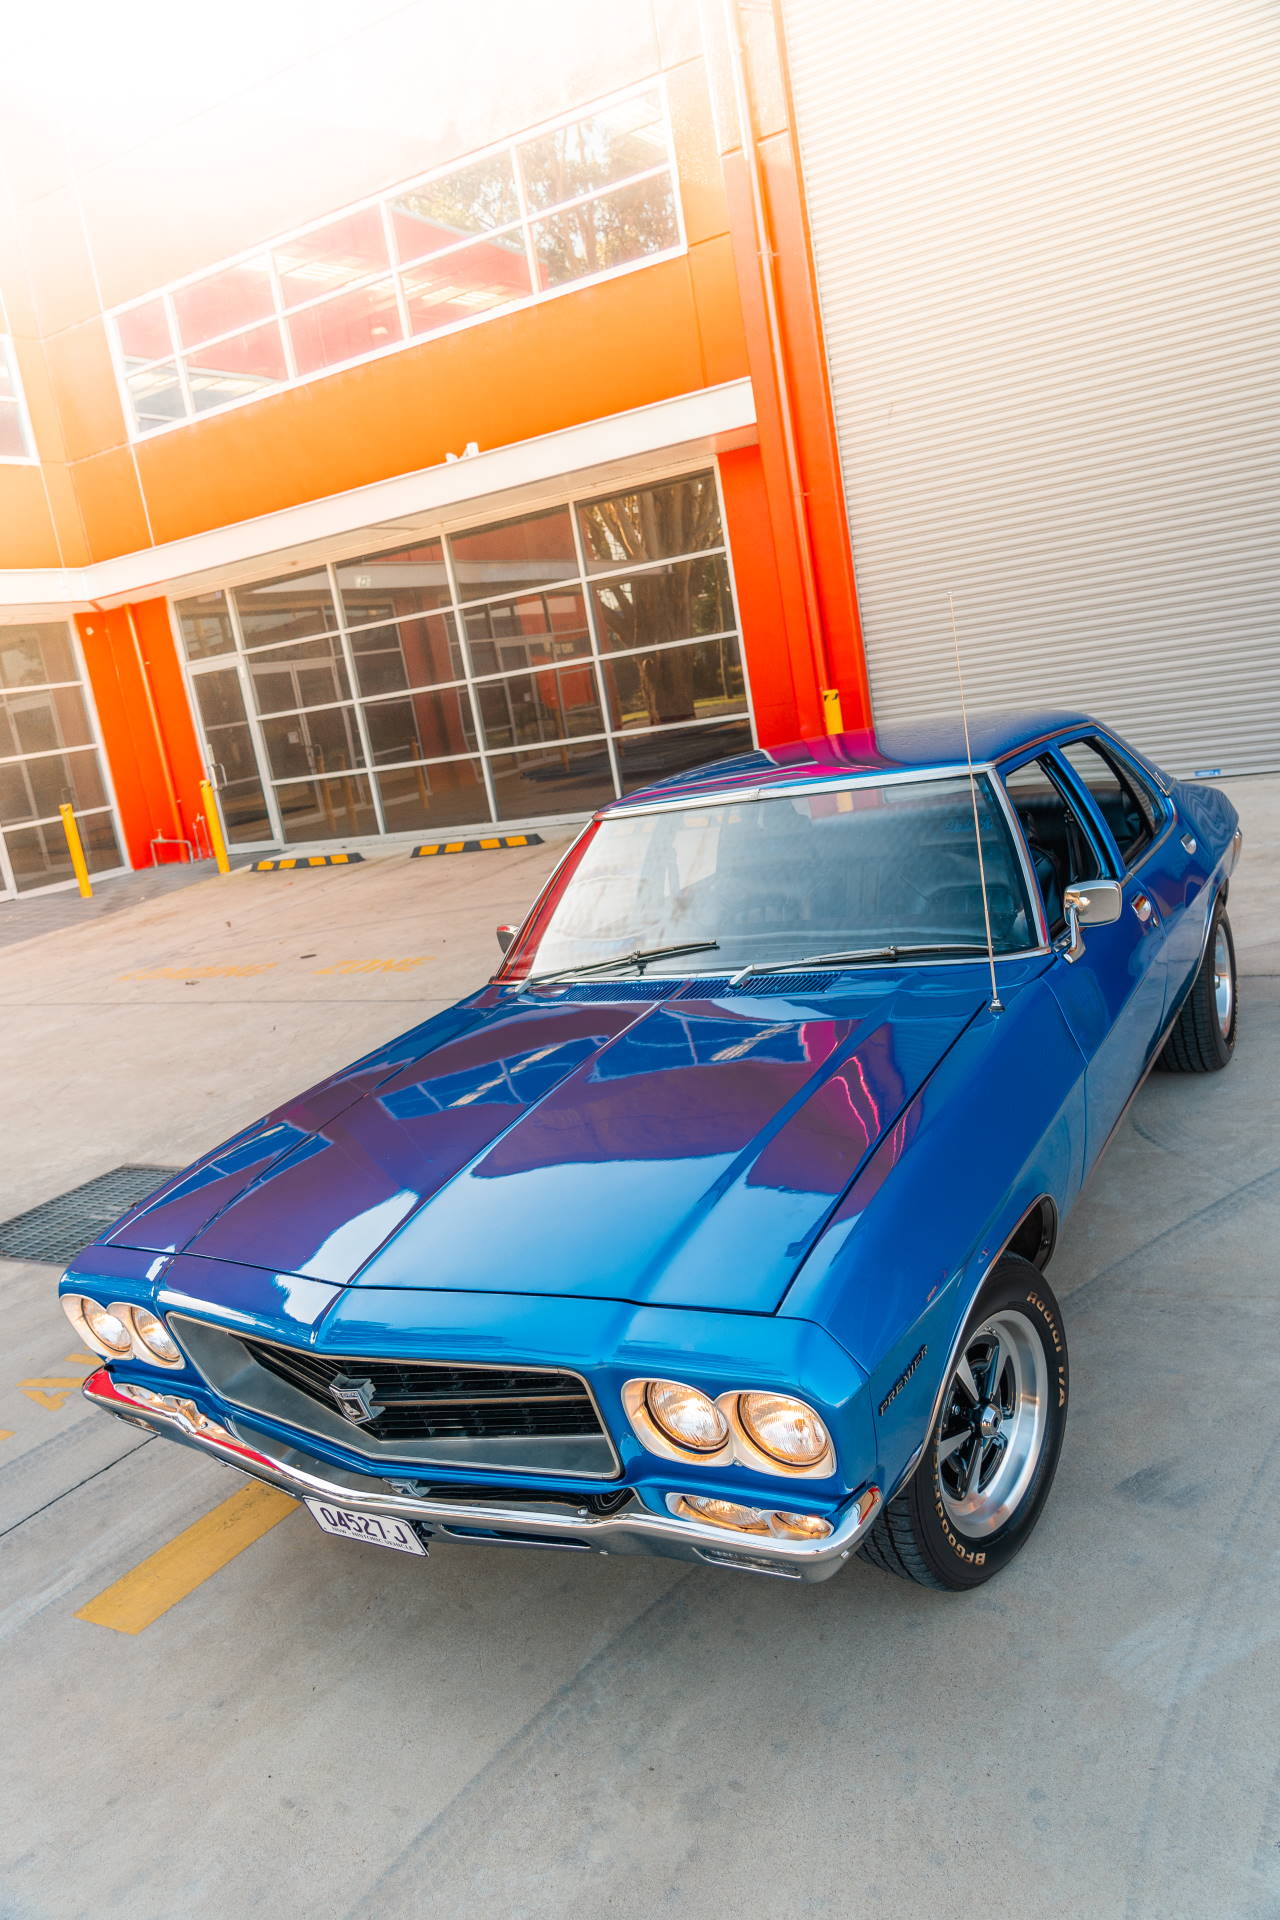
[[[1002,760],[1052,733],[1098,728],[1082,712],[1059,710],[984,710],[969,714],[969,747],[983,766]],[[662,735],[654,735],[660,739]],[[651,801],[699,799],[710,793],[758,791],[814,781],[848,783],[858,774],[933,774],[965,764],[965,733],[960,716],[942,720],[913,720],[902,726],[883,726],[875,732],[823,733],[818,739],[796,739],[785,747],[758,747],[729,760],[714,760],[683,774],[656,780],[649,787],[610,801],[601,812],[643,806]]]

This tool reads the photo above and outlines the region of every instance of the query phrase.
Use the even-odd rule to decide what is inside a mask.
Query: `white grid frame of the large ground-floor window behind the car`
[[[718,545],[714,545],[714,547],[699,547],[699,549],[695,549],[691,553],[672,553],[672,555],[664,555],[662,559],[654,559],[654,561],[639,561],[639,563],[637,561],[629,561],[629,563],[620,563],[618,566],[599,568],[599,570],[591,570],[591,572],[587,570],[587,566],[585,566],[585,551],[583,551],[583,541],[581,541],[581,526],[580,526],[580,520],[578,520],[578,509],[581,505],[587,505],[587,503],[597,501],[597,499],[610,499],[614,493],[626,493],[629,490],[660,488],[660,486],[664,486],[664,484],[668,484],[672,480],[685,480],[685,478],[691,478],[695,474],[712,474],[712,482],[714,482],[714,488],[716,488],[716,505],[718,505],[718,511],[720,511],[720,543]],[[459,534],[474,532],[476,528],[503,524],[505,520],[520,520],[520,518],[526,518],[530,515],[549,513],[549,511],[568,511],[568,515],[570,515],[570,524],[574,528],[576,572],[566,574],[562,580],[551,580],[543,588],[528,588],[526,586],[526,588],[512,589],[510,593],[489,593],[484,599],[462,599],[459,595],[457,578],[455,578],[455,563],[453,563],[453,538],[457,538]],[[263,783],[263,791],[265,791],[265,797],[267,797],[267,810],[269,810],[269,816],[273,820],[273,826],[276,828],[276,835],[271,841],[238,841],[236,843],[236,851],[238,852],[255,852],[259,849],[278,847],[278,845],[290,845],[290,847],[294,847],[294,845],[296,847],[309,845],[307,841],[286,841],[284,839],[284,833],[282,833],[282,816],[280,816],[280,808],[278,808],[278,801],[276,801],[276,791],[280,787],[297,785],[299,781],[303,781],[307,778],[311,778],[311,780],[320,780],[320,778],[324,778],[324,780],[365,780],[368,783],[372,810],[374,810],[374,818],[376,818],[376,831],[374,833],[359,833],[359,835],[338,831],[338,833],[330,835],[334,841],[351,843],[351,845],[355,845],[355,843],[378,843],[378,841],[386,841],[386,839],[405,839],[405,841],[407,839],[422,839],[424,835],[430,835],[430,833],[436,833],[436,831],[447,833],[451,837],[457,837],[459,833],[470,833],[472,829],[474,831],[482,831],[482,833],[493,833],[493,831],[507,833],[507,831],[520,831],[526,826],[545,826],[551,820],[581,818],[585,812],[591,812],[593,808],[578,808],[576,812],[574,810],[562,810],[562,812],[555,812],[555,814],[528,814],[528,816],[520,816],[518,820],[514,816],[507,818],[507,816],[499,814],[497,801],[495,801],[495,791],[493,791],[491,762],[493,760],[503,760],[509,755],[520,755],[520,753],[522,755],[557,753],[562,747],[578,749],[578,747],[597,747],[599,745],[599,747],[604,747],[604,751],[608,755],[608,768],[610,768],[610,778],[612,778],[612,785],[614,785],[614,795],[620,795],[622,793],[622,772],[620,772],[620,758],[618,758],[620,745],[624,745],[626,741],[649,739],[649,737],[658,735],[658,733],[679,733],[679,732],[689,732],[693,728],[704,728],[704,726],[716,726],[718,724],[716,720],[676,720],[676,722],[668,722],[666,726],[656,726],[656,728],[614,728],[610,724],[608,689],[606,689],[606,684],[604,684],[604,664],[610,659],[614,659],[614,657],[616,659],[629,659],[629,657],[633,657],[637,653],[654,653],[654,651],[660,651],[660,649],[689,647],[689,645],[699,645],[702,641],[725,639],[725,637],[733,636],[737,639],[739,664],[741,664],[741,670],[743,670],[743,703],[745,703],[745,710],[741,714],[723,714],[723,722],[731,724],[735,720],[745,720],[747,728],[748,728],[748,733],[750,733],[752,745],[758,745],[756,710],[754,710],[754,699],[752,699],[752,689],[750,689],[750,668],[748,668],[748,662],[747,662],[747,649],[743,645],[743,626],[741,626],[741,611],[739,611],[739,601],[737,601],[737,582],[735,582],[735,574],[733,574],[733,551],[731,551],[731,545],[729,545],[729,522],[727,522],[727,516],[725,516],[723,486],[722,486],[722,478],[720,478],[720,463],[716,459],[708,461],[706,455],[702,455],[700,459],[679,461],[679,463],[674,463],[670,467],[654,468],[652,472],[639,474],[635,480],[612,480],[606,486],[599,486],[597,484],[597,486],[591,486],[591,488],[576,488],[574,492],[564,493],[558,499],[541,499],[541,501],[537,501],[537,505],[530,505],[526,509],[526,513],[507,511],[507,513],[495,515],[491,505],[489,505],[487,511],[484,511],[484,501],[476,501],[474,515],[468,515],[466,518],[459,518],[459,520],[449,520],[447,524],[441,524],[436,530],[422,528],[422,530],[416,530],[416,532],[409,532],[409,538],[405,538],[405,534],[401,534],[399,540],[386,541],[386,545],[382,545],[382,547],[370,547],[368,555],[372,557],[378,551],[395,553],[399,547],[403,547],[407,543],[418,543],[418,541],[428,541],[428,540],[441,540],[445,572],[447,572],[447,580],[449,580],[449,595],[451,595],[447,607],[434,609],[434,611],[436,612],[447,612],[453,618],[457,643],[462,649],[462,662],[464,662],[464,668],[466,668],[466,676],[462,680],[436,682],[432,687],[405,687],[405,689],[391,691],[391,693],[365,693],[365,695],[359,693],[359,680],[357,680],[357,674],[355,674],[355,660],[353,660],[351,647],[349,647],[349,636],[351,636],[351,632],[359,632],[363,626],[386,626],[388,622],[384,622],[384,620],[370,620],[370,622],[355,622],[355,626],[351,626],[347,622],[347,616],[345,616],[345,609],[344,609],[344,603],[342,603],[342,591],[340,591],[340,584],[338,584],[338,568],[340,566],[351,566],[351,559],[344,557],[340,561],[320,563],[324,566],[326,576],[328,576],[330,597],[332,597],[334,609],[338,612],[340,634],[342,634],[342,639],[344,639],[345,660],[347,660],[347,676],[349,676],[349,682],[351,682],[351,699],[349,701],[324,701],[324,703],[319,703],[317,708],[297,708],[297,712],[324,710],[324,708],[330,708],[330,707],[353,707],[355,712],[357,712],[357,726],[359,726],[359,732],[361,732],[361,743],[365,747],[367,762],[368,762],[363,768],[351,768],[351,770],[344,770],[344,772],[336,772],[336,774],[324,774],[324,776],[311,774],[311,776],[286,776],[286,778],[276,778],[271,772],[271,762],[269,762],[269,756],[267,756],[265,739],[263,739],[263,732],[261,732],[263,718],[257,714],[257,707],[255,707],[255,701],[253,701],[253,689],[251,689],[249,674],[248,674],[248,660],[249,660],[249,657],[261,653],[263,649],[246,649],[244,636],[240,632],[240,616],[238,616],[238,609],[236,609],[236,603],[234,603],[236,588],[257,586],[255,580],[232,580],[232,582],[226,584],[226,588],[219,588],[217,584],[211,582],[209,588],[201,588],[201,591],[225,591],[226,593],[226,607],[230,611],[232,632],[236,636],[236,651],[234,653],[211,655],[209,659],[196,660],[196,662],[192,662],[192,660],[186,659],[186,647],[182,643],[182,628],[180,628],[180,620],[178,620],[177,597],[169,599],[169,620],[171,620],[171,628],[173,628],[173,643],[175,643],[175,647],[178,651],[178,659],[182,662],[182,672],[186,676],[188,695],[190,695],[190,701],[192,701],[192,718],[196,722],[196,732],[198,732],[198,737],[200,737],[200,743],[201,743],[201,753],[205,756],[205,764],[207,764],[207,741],[205,741],[203,726],[201,726],[201,720],[200,720],[200,708],[198,708],[198,703],[196,703],[196,697],[194,697],[194,691],[192,691],[192,682],[200,674],[213,672],[219,666],[236,664],[238,670],[240,670],[242,691],[244,691],[244,699],[246,699],[246,714],[248,714],[249,730],[251,730],[251,735],[253,735],[253,745],[255,745],[255,751],[257,751],[257,774],[259,774],[259,780]],[[359,559],[365,559],[365,557],[367,555],[359,555]],[[656,568],[662,568],[662,566],[677,566],[681,561],[699,561],[699,559],[716,559],[716,557],[723,557],[723,561],[725,561],[727,582],[729,582],[729,599],[731,599],[731,605],[733,605],[735,626],[723,628],[718,634],[691,634],[685,639],[660,641],[660,643],[649,645],[649,647],[622,647],[622,649],[601,647],[601,643],[599,643],[599,632],[597,632],[597,618],[595,618],[595,601],[593,601],[593,595],[591,595],[591,588],[593,586],[601,586],[601,584],[606,584],[608,580],[618,580],[618,578],[626,580],[626,578],[631,578],[635,574],[651,572],[651,570],[656,570]],[[315,570],[319,572],[320,566],[317,564]],[[267,578],[278,578],[278,576],[276,574],[263,574],[263,578],[267,580]],[[464,628],[466,611],[472,609],[472,607],[478,609],[478,607],[507,605],[510,601],[528,599],[532,593],[555,591],[558,588],[568,589],[568,591],[576,591],[576,593],[583,593],[583,597],[585,597],[585,616],[587,616],[587,626],[589,626],[589,641],[587,641],[587,653],[578,655],[572,660],[564,660],[564,662],[557,662],[557,664],[576,666],[580,670],[581,668],[591,668],[593,670],[595,689],[597,689],[597,703],[599,703],[601,718],[603,718],[603,730],[601,732],[593,732],[593,733],[570,733],[564,739],[555,739],[555,741],[524,741],[524,743],[520,743],[516,747],[487,747],[486,745],[486,735],[484,735],[484,722],[482,722],[482,716],[480,716],[480,699],[478,699],[480,687],[484,687],[487,684],[493,684],[493,682],[509,680],[512,676],[520,676],[520,674],[526,674],[526,672],[537,672],[537,668],[522,668],[522,666],[518,666],[518,668],[509,668],[509,670],[503,670],[503,672],[497,672],[497,674],[476,674],[472,670],[470,643],[468,643],[466,628]],[[420,614],[405,614],[405,618],[422,618],[422,616]],[[326,634],[330,630],[326,630]],[[303,637],[311,637],[311,636],[303,636]],[[294,643],[296,641],[278,641],[276,645],[294,645]],[[267,649],[267,651],[271,651],[271,649]],[[397,760],[397,762],[388,762],[388,764],[374,764],[372,762],[372,755],[368,753],[367,730],[365,730],[365,722],[363,722],[363,708],[365,707],[372,707],[372,705],[378,705],[380,701],[390,701],[390,699],[407,699],[413,693],[422,693],[422,691],[436,693],[436,691],[449,691],[449,689],[455,689],[455,691],[457,689],[464,689],[466,695],[468,695],[470,708],[472,708],[472,730],[474,730],[474,735],[476,735],[476,747],[474,747],[474,751],[470,751],[470,753],[455,753],[455,755],[434,755],[430,760],[428,758],[413,758],[413,760]],[[286,718],[286,716],[284,714],[269,714],[267,718],[278,720],[278,718]],[[380,789],[378,789],[378,776],[380,774],[403,772],[405,768],[415,768],[415,766],[422,766],[430,774],[432,766],[455,764],[459,760],[478,760],[480,762],[480,772],[482,772],[482,781],[484,781],[484,789],[486,789],[486,799],[487,799],[487,804],[489,804],[489,816],[487,818],[478,818],[478,820],[466,822],[462,826],[449,826],[449,828],[439,828],[439,829],[438,828],[415,828],[415,829],[401,829],[401,831],[397,831],[397,829],[388,829],[386,828],[386,818],[384,818],[384,808],[382,808],[382,795],[380,795]],[[597,803],[597,804],[604,804],[604,803]]]

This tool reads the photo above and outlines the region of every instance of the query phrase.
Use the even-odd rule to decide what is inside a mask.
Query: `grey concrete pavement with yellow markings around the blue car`
[[[1230,791],[1238,1058],[1151,1077],[1063,1235],[1057,1486],[969,1597],[234,1507],[83,1405],[58,1269],[0,1261],[0,1914],[1280,1914],[1280,781]],[[0,1215],[453,1000],[555,852],[236,874],[0,950]],[[121,1580],[178,1597],[77,1619]]]

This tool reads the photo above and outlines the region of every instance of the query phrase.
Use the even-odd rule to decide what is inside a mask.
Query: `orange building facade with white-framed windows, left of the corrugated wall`
[[[0,899],[865,724],[773,10],[273,31],[8,119]]]

